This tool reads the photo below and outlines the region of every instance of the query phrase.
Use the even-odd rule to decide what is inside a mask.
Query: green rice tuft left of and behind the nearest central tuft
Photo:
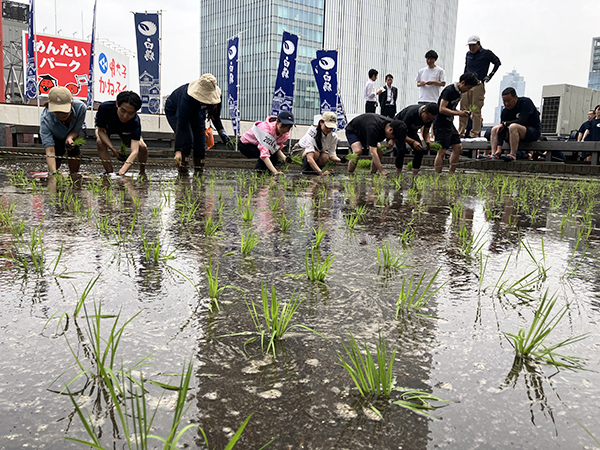
[[[244,301],[246,302],[248,311],[250,311],[252,322],[254,322],[254,327],[258,333],[258,336],[252,337],[246,341],[244,348],[251,342],[260,339],[261,348],[267,353],[272,350],[273,356],[277,357],[276,344],[283,339],[288,330],[296,327],[304,328],[305,330],[312,331],[313,333],[324,337],[306,325],[291,325],[294,314],[296,314],[296,311],[304,301],[303,298],[300,298],[300,294],[296,294],[295,291],[292,292],[290,299],[286,303],[283,303],[277,299],[275,286],[271,285],[271,298],[269,298],[267,285],[262,281],[260,283],[260,290],[262,307],[257,307],[254,300],[248,302],[244,296]]]

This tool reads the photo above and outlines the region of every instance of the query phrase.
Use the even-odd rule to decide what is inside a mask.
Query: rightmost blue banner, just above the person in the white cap
[[[333,111],[338,118],[338,130],[346,128],[346,114],[340,98],[337,80],[337,50],[317,50],[317,58],[310,64],[313,69],[319,98],[321,114]]]

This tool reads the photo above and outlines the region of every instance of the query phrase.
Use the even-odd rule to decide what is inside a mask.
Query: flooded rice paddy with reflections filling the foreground
[[[91,432],[136,448],[133,419],[167,439],[177,411],[180,448],[206,448],[198,427],[225,448],[250,416],[236,448],[600,447],[595,180],[32,170],[0,173],[0,449],[85,448],[65,437]],[[386,248],[397,268],[380,266]],[[301,301],[303,327],[272,345],[261,286]],[[573,342],[516,357],[507,333],[550,300],[564,315],[539,348]],[[340,361],[350,333],[363,353],[385,339],[403,390],[360,396]],[[419,414],[394,403],[406,389],[445,401]]]

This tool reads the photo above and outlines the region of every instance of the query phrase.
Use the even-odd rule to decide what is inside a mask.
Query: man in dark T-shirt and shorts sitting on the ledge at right
[[[537,141],[542,134],[540,113],[527,97],[518,97],[514,88],[508,87],[502,91],[504,108],[500,114],[500,125],[492,128],[491,148],[494,156],[504,161],[512,162],[517,159],[519,142]],[[502,154],[502,144],[505,140],[510,143],[510,153]]]

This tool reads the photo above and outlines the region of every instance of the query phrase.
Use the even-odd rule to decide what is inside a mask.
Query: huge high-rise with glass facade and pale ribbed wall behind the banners
[[[239,105],[242,120],[262,120],[271,100],[283,31],[299,36],[293,112],[300,124],[319,114],[310,61],[319,49],[338,50],[339,88],[349,115],[364,112],[369,69],[377,84],[391,73],[398,106],[415,104],[425,53],[452,80],[458,0],[205,0],[200,9],[200,73],[217,77],[227,98],[227,40],[240,33]],[[223,108],[222,115],[228,115]]]

